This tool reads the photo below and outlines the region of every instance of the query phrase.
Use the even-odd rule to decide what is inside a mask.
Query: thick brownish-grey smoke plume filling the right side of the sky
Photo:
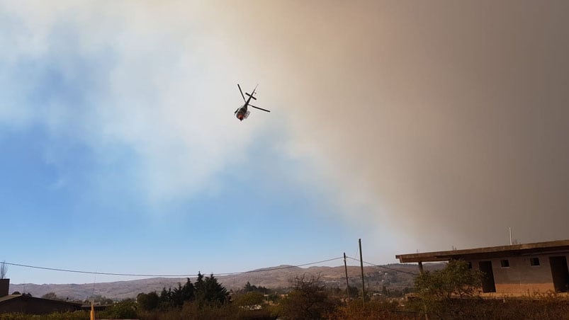
[[[405,253],[507,244],[508,227],[522,243],[568,237],[567,13],[286,1],[215,14],[286,108],[292,152],[371,208],[351,217],[411,238]]]

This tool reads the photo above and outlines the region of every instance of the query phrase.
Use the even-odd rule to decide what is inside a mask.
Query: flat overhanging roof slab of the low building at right
[[[541,253],[569,252],[569,240],[536,242],[534,244],[512,244],[512,246],[489,246],[464,250],[436,251],[425,253],[398,254],[400,263],[434,262],[449,260],[476,260],[505,258],[512,256],[531,256]]]

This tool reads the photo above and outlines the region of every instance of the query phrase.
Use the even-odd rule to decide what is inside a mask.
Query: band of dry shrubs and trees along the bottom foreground
[[[140,294],[114,304],[98,319],[141,320],[371,320],[371,319],[568,319],[569,297],[555,292],[531,297],[483,299],[477,290],[480,273],[454,261],[415,279],[412,299],[385,295],[345,300],[345,291],[330,289],[317,275],[297,276],[287,295],[247,283],[228,295],[211,275],[192,284],[189,280],[160,294]],[[354,292],[357,296],[357,290]],[[360,291],[361,293],[361,291]],[[221,295],[219,295],[221,294]],[[30,316],[0,314],[0,320],[79,320],[88,312]]]

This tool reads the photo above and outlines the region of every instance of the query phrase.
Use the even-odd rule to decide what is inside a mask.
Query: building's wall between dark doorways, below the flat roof
[[[569,253],[557,253],[536,256],[492,258],[469,261],[475,270],[479,270],[479,261],[492,261],[492,271],[496,286],[495,295],[531,295],[535,292],[555,291],[549,257],[565,256],[569,262]],[[531,258],[539,258],[539,265],[531,265]],[[502,267],[501,261],[507,260],[509,267]]]

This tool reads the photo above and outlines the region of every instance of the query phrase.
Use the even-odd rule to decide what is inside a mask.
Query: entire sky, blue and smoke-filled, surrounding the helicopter
[[[0,1],[0,259],[227,273],[356,256],[358,238],[373,263],[508,244],[508,227],[567,239],[568,15],[566,1]],[[237,120],[237,83],[271,113]]]

